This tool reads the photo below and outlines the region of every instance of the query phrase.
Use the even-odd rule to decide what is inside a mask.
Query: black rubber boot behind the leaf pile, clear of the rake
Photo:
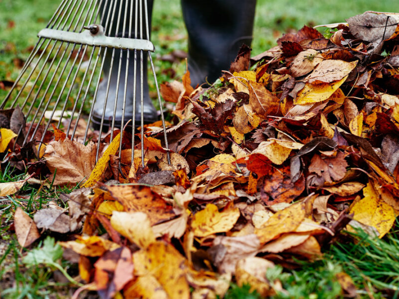
[[[192,86],[213,83],[241,45],[251,45],[255,6],[256,0],[182,0]]]

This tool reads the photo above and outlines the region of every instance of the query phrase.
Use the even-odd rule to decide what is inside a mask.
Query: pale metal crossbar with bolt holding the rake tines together
[[[104,34],[103,26],[98,24],[92,24],[84,28],[86,30],[81,33],[45,28],[37,36],[89,46],[155,51],[153,43],[147,39],[109,37]],[[95,33],[93,34],[93,32]]]

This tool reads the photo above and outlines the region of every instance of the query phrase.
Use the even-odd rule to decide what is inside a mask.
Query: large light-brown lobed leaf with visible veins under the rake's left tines
[[[57,169],[54,185],[75,184],[89,178],[96,162],[96,147],[94,143],[84,146],[69,139],[53,141],[46,146],[43,157],[52,175]]]

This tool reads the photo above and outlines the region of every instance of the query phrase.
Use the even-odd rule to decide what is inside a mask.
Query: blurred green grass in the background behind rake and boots
[[[0,81],[3,81],[3,88],[15,80],[37,40],[37,32],[45,26],[58,4],[57,0],[0,0]],[[299,29],[304,24],[340,22],[366,10],[398,12],[399,1],[258,0],[252,55],[267,50],[283,33]],[[152,25],[159,81],[180,78],[186,68],[185,61],[162,60],[164,55],[174,50],[187,50],[180,1],[155,0]],[[0,90],[0,101],[5,94],[6,90]]]

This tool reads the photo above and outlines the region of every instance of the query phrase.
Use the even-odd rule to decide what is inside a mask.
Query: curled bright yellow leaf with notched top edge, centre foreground
[[[194,215],[191,223],[192,231],[197,237],[228,232],[237,222],[239,216],[238,208],[227,207],[227,209],[219,212],[217,206],[210,203]]]

